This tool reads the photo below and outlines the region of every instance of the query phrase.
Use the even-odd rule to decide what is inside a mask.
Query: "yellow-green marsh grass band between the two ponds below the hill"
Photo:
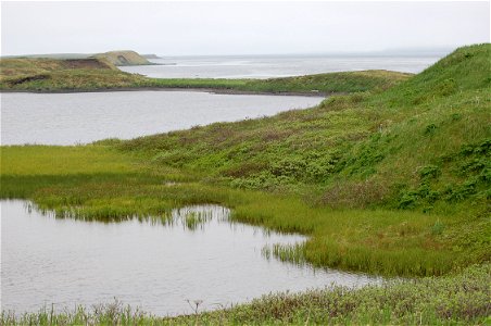
[[[232,209],[237,221],[311,236],[295,256],[280,259],[386,275],[441,275],[487,255],[487,233],[475,229],[486,226],[486,216],[469,223],[459,215],[383,208],[332,210],[294,195],[207,185],[202,175],[159,168],[143,154],[127,156],[102,145],[5,147],[2,158],[1,198],[34,199],[61,217],[167,216],[174,208],[216,203]],[[191,226],[199,222],[192,217]],[[435,225],[444,226],[435,233]],[[464,225],[471,228],[464,233]],[[461,238],[452,237],[457,233]],[[470,237],[479,241],[468,246]]]

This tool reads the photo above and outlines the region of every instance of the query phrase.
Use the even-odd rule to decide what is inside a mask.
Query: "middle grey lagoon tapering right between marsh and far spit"
[[[198,91],[2,93],[2,145],[74,145],[274,115],[318,104],[320,97]]]

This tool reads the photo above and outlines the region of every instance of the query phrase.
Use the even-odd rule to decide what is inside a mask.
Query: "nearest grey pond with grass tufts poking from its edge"
[[[167,222],[55,218],[26,201],[1,201],[1,308],[36,312],[113,302],[159,315],[210,310],[270,291],[350,287],[379,278],[266,259],[264,248],[305,238],[232,223],[217,205],[174,210]],[[199,216],[198,225],[186,223]]]

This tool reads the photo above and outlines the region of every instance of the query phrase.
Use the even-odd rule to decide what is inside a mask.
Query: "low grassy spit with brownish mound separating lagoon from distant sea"
[[[116,54],[114,54],[116,59],[113,58],[114,55],[108,57],[106,53],[101,55],[97,60],[2,59],[0,60],[0,89],[83,91],[126,88],[205,88],[250,92],[330,93],[386,89],[410,76],[410,74],[396,72],[366,71],[267,80],[154,79],[118,71],[113,65],[117,61]],[[97,61],[100,64],[95,65]],[[313,90],[315,92],[312,92]]]

